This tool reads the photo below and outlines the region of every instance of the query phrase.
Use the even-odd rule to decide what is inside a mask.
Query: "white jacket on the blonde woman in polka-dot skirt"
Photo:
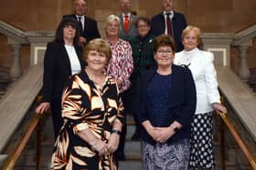
[[[190,62],[187,63],[187,57]],[[205,114],[213,110],[211,104],[219,103],[218,82],[213,65],[213,54],[195,48],[191,51],[176,53],[176,65],[189,65],[197,87],[196,114]]]

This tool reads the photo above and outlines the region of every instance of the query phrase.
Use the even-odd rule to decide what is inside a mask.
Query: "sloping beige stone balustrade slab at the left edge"
[[[34,65],[17,80],[0,103],[0,152],[18,127],[42,87],[43,65]]]

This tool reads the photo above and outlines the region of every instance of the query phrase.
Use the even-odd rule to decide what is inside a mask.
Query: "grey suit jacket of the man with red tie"
[[[138,35],[137,28],[134,24],[137,19],[136,15],[130,15],[130,23],[129,23],[129,31],[128,32],[124,31],[123,15],[118,15],[118,17],[120,18],[120,22],[121,22],[120,37],[123,40],[129,41],[130,38]]]

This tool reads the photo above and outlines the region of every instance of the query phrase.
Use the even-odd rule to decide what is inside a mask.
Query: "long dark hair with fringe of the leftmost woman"
[[[78,25],[77,21],[74,18],[71,18],[71,17],[65,17],[59,22],[58,28],[57,28],[56,33],[55,33],[54,41],[64,44],[63,29],[66,25],[71,25],[73,28],[75,28],[76,35],[74,37],[73,44],[78,45],[79,44],[79,37],[80,37],[79,25]]]

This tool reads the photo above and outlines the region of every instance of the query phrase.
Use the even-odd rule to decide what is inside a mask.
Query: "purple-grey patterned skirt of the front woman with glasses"
[[[186,170],[189,160],[189,139],[172,144],[150,145],[143,141],[144,170]]]

